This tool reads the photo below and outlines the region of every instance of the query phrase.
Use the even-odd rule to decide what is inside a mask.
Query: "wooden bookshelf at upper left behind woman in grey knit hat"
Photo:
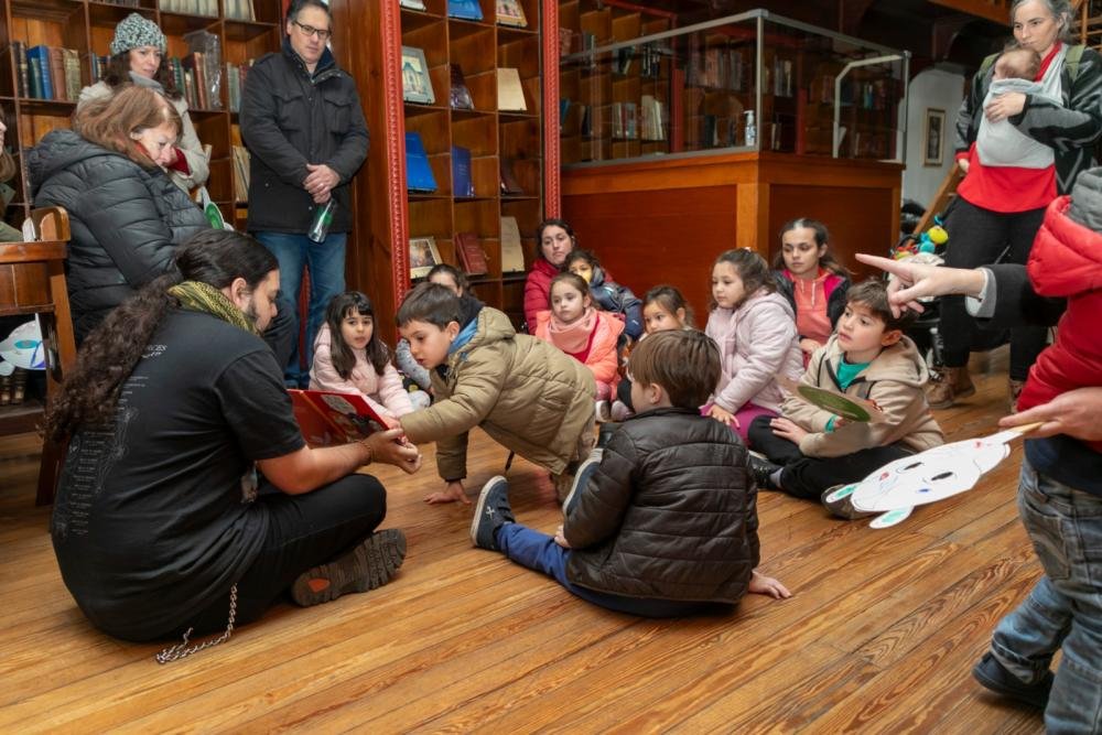
[[[97,82],[93,78],[93,57],[109,55],[115,26],[131,12],[139,12],[155,22],[168,37],[168,57],[188,52],[184,34],[206,30],[217,36],[222,50],[223,79],[218,105],[208,109],[188,110],[199,141],[212,147],[210,175],[207,191],[227,221],[245,224],[244,203],[234,195],[233,144],[240,144],[237,114],[230,114],[225,64],[244,64],[266,53],[278,51],[282,39],[280,0],[252,0],[256,21],[228,19],[226,3],[217,3],[218,14],[197,15],[168,12],[158,0],[140,0],[138,7],[98,2],[96,0],[0,0],[0,107],[8,120],[6,144],[20,162],[20,173],[11,183],[15,197],[6,218],[17,227],[30,213],[30,192],[23,149],[37,143],[54,128],[69,126],[75,101],[35,99],[17,94],[19,86],[12,42],[26,47],[44,44],[74,48],[80,58],[80,87]]]

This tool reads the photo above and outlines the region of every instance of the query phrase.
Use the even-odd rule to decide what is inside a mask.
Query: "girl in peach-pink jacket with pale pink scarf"
[[[536,336],[550,342],[593,372],[596,400],[607,401],[619,382],[616,342],[624,320],[594,307],[585,279],[559,273],[551,279],[551,310],[536,315]],[[608,403],[597,407],[598,419],[607,419]]]

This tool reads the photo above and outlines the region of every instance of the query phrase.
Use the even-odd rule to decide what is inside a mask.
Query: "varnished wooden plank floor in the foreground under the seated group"
[[[997,361],[997,360],[996,360]],[[939,413],[950,439],[986,433],[1005,372]],[[505,451],[472,442],[475,483]],[[379,473],[386,526],[406,529],[397,580],[310,609],[281,605],[169,666],[156,646],[94,630],[58,576],[34,509],[33,436],[0,440],[0,732],[1036,733],[1038,713],[988,696],[969,670],[1038,575],[1014,506],[1020,446],[971,493],[894,529],[759,500],[766,573],[795,593],[732,615],[653,621],[608,613],[471,548],[468,507],[426,507],[432,464]],[[431,455],[430,457],[431,458]],[[557,525],[545,474],[510,472],[520,520]]]

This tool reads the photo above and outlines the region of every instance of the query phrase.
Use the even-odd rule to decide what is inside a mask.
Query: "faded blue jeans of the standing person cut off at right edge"
[[[1045,575],[1000,621],[991,652],[1033,683],[1062,648],[1045,727],[1102,732],[1102,498],[1040,475],[1023,461],[1018,510]]]

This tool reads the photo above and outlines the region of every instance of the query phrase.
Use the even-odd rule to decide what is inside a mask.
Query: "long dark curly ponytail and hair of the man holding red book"
[[[46,413],[46,436],[64,441],[82,425],[111,420],[119,391],[156,327],[169,310],[180,306],[170,288],[199,281],[224,289],[244,278],[255,289],[278,268],[276,257],[247,235],[209,229],[192,237],[176,252],[175,268],[142,287],[85,339],[76,366]]]

